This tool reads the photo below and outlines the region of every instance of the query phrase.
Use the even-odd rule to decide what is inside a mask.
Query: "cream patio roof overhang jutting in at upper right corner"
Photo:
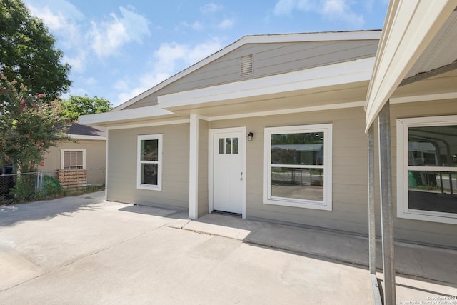
[[[398,86],[426,79],[431,85],[440,74],[448,74],[446,81],[456,84],[456,6],[457,0],[391,1],[366,97],[366,131],[391,96],[418,95],[415,88],[424,90],[422,84],[396,91]],[[434,81],[428,93],[457,91],[452,89],[455,85],[444,86]]]

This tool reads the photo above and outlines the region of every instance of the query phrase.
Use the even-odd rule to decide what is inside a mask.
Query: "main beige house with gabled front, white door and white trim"
[[[107,129],[106,198],[189,210],[191,219],[226,211],[367,234],[364,106],[373,67],[384,56],[375,58],[380,37],[381,31],[245,36],[109,113],[81,116],[81,123]],[[396,119],[457,114],[455,75],[398,89],[393,130]],[[456,116],[446,121],[457,124]],[[448,130],[436,131],[442,133]],[[393,151],[407,139],[393,141]],[[440,151],[433,152],[437,159],[444,158]],[[441,174],[456,178],[450,166]],[[429,209],[441,208],[423,209],[416,219],[394,215],[396,238],[455,246],[457,212]]]

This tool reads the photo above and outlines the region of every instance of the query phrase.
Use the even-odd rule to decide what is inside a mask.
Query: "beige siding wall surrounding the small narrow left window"
[[[136,188],[137,136],[162,134],[162,190]],[[189,209],[189,124],[109,130],[110,201]]]

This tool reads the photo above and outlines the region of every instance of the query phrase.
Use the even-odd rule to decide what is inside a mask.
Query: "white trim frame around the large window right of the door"
[[[307,209],[332,210],[332,124],[266,127],[263,149],[263,203],[279,206],[294,206]],[[323,201],[287,199],[271,196],[271,134],[323,132]],[[304,166],[313,167],[313,166]]]

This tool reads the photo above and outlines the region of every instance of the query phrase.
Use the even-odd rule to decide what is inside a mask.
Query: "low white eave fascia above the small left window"
[[[170,114],[173,114],[173,112],[161,109],[159,105],[154,105],[121,111],[110,111],[103,114],[79,116],[79,124],[103,125],[115,123],[116,121],[128,121],[130,119],[159,119],[161,116],[169,116]]]

